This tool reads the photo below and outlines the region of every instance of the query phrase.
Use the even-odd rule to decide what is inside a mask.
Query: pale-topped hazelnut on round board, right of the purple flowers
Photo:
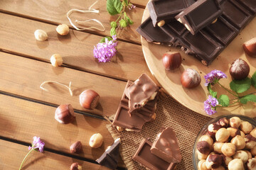
[[[245,60],[237,59],[231,64],[230,75],[236,80],[245,79],[249,72],[250,67]]]

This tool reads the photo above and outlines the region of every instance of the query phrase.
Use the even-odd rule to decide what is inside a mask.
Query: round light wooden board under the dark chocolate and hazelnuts
[[[144,15],[142,17],[142,22],[149,17],[149,11],[146,8]],[[208,91],[206,89],[205,79],[203,78],[213,69],[218,69],[227,74],[228,79],[221,79],[220,84],[229,89],[229,83],[232,81],[229,74],[229,68],[231,63],[241,58],[245,60],[250,65],[250,74],[249,77],[252,77],[252,74],[256,71],[256,58],[249,57],[245,55],[245,52],[242,50],[243,42],[250,40],[253,37],[256,37],[256,18],[254,18],[240,34],[233,40],[233,42],[225,48],[223,52],[208,66],[204,66],[196,58],[186,55],[181,49],[177,47],[168,47],[164,45],[156,45],[149,42],[146,42],[142,38],[142,50],[148,65],[151,74],[159,81],[159,84],[167,91],[169,95],[176,99],[179,103],[187,108],[190,108],[192,111],[201,113],[202,115],[207,115],[204,111],[203,102],[208,98]],[[181,53],[183,58],[181,67],[175,71],[166,71],[162,64],[162,55],[165,52],[169,51],[178,51]],[[201,75],[201,84],[195,89],[185,89],[181,85],[181,74],[184,69],[193,68],[196,69]],[[218,91],[218,96],[220,94],[226,94],[230,99],[235,98],[228,94],[223,88],[215,84],[213,86],[215,91]],[[251,86],[249,91],[246,91],[245,94],[255,92],[255,88]],[[240,96],[242,96],[241,94]],[[256,117],[256,103],[248,102],[246,105],[235,104],[230,107],[218,108],[217,113],[211,117],[217,117],[218,115],[225,114],[240,114],[247,115],[251,118]],[[209,116],[209,115],[208,115]]]

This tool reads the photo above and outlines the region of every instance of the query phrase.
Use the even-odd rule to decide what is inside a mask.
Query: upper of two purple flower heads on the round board
[[[206,74],[204,77],[206,79],[205,86],[208,86],[208,84],[215,84],[222,78],[227,78],[227,75],[220,70],[214,69],[210,73]]]

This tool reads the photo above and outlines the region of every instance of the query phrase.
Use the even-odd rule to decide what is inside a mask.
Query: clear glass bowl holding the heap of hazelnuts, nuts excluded
[[[192,156],[192,157],[193,157],[193,167],[194,167],[195,170],[198,169],[198,162],[199,162],[198,155],[197,155],[197,152],[196,152],[196,150],[197,150],[197,149],[196,149],[196,144],[197,144],[197,142],[199,141],[200,137],[201,137],[202,135],[205,135],[205,134],[206,134],[206,132],[207,132],[207,130],[208,130],[208,125],[210,125],[211,123],[217,122],[220,118],[228,118],[228,119],[230,119],[230,118],[235,117],[235,116],[237,116],[237,117],[240,118],[241,120],[244,120],[244,121],[247,121],[247,122],[251,123],[253,128],[256,127],[256,121],[255,121],[254,119],[252,119],[252,118],[249,118],[249,117],[245,116],[245,115],[220,115],[219,117],[213,118],[212,120],[210,120],[210,121],[209,121],[208,123],[206,123],[206,125],[204,125],[203,128],[201,128],[201,130],[198,132],[198,135],[197,135],[197,137],[196,137],[195,143],[194,143],[194,145],[193,145],[193,153],[192,153],[193,156]]]

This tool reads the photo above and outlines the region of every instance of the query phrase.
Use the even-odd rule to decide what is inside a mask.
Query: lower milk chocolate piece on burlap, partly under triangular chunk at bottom
[[[175,168],[175,163],[169,163],[163,159],[156,157],[156,155],[150,152],[152,142],[149,140],[143,139],[139,144],[137,152],[134,154],[132,159],[137,161],[142,166],[145,166],[151,170],[172,170]]]

